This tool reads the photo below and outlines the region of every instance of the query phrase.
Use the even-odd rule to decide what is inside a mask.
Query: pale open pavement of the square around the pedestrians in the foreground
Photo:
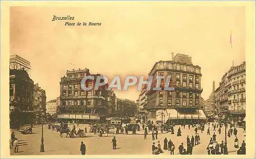
[[[71,126],[71,125],[70,125]],[[80,124],[78,128],[84,129],[86,125]],[[87,125],[88,126],[88,125]],[[186,125],[185,129],[181,127],[182,136],[177,137],[177,129],[178,126],[175,126],[175,134],[172,135],[170,133],[167,134],[159,134],[158,140],[161,143],[161,147],[163,149],[163,140],[166,137],[168,140],[171,139],[175,144],[175,154],[178,153],[178,147],[181,144],[181,142],[184,143],[186,148],[186,137],[189,135],[191,138],[191,135],[195,135],[194,128],[190,127],[190,130],[188,129],[188,126]],[[88,131],[89,131],[89,127]],[[210,125],[210,136],[207,136],[207,128],[203,131],[203,134],[201,134],[201,131],[198,131],[200,135],[200,144],[195,146],[193,148],[193,154],[207,154],[206,147],[209,143],[210,137],[212,137],[213,128]],[[229,127],[228,127],[229,128]],[[218,130],[216,128],[216,130]],[[15,136],[18,138],[18,140],[25,140],[28,142],[28,144],[24,144],[23,146],[19,146],[19,152],[14,153],[13,149],[10,149],[11,155],[77,155],[80,154],[80,142],[83,141],[86,144],[88,155],[111,155],[111,154],[152,154],[152,135],[151,132],[147,135],[147,140],[144,140],[143,135],[115,135],[117,139],[117,149],[112,149],[111,140],[113,138],[113,134],[109,134],[109,137],[98,137],[98,135],[94,135],[93,133],[87,133],[86,138],[66,138],[66,135],[63,135],[63,138],[59,136],[59,133],[56,131],[52,131],[48,129],[48,125],[44,126],[44,144],[45,144],[45,152],[39,152],[40,150],[40,142],[41,142],[41,127],[40,126],[34,126],[33,133],[30,135],[22,135],[21,133],[15,131]],[[10,132],[11,133],[11,132]],[[216,131],[217,135],[217,141],[221,143],[221,140],[225,139],[225,127],[222,127],[222,133],[219,135],[219,132]],[[228,142],[228,151],[229,154],[236,154],[237,150],[234,148],[234,136],[231,136],[231,138],[227,138]],[[245,140],[243,129],[238,128],[238,139],[239,139],[239,146],[241,146],[241,143],[243,140]],[[155,140],[154,142],[157,143],[158,140]],[[163,154],[169,154],[169,151],[165,151]],[[161,155],[161,154],[160,154]]]

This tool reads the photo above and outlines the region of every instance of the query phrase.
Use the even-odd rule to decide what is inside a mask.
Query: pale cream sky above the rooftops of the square
[[[155,62],[170,60],[172,52],[191,56],[202,68],[202,97],[207,99],[212,81],[217,88],[232,61],[245,61],[243,7],[98,3],[83,8],[11,7],[10,15],[10,54],[31,62],[31,78],[46,90],[47,101],[59,96],[66,70],[87,67],[110,78],[148,75]],[[67,20],[51,21],[53,15],[102,24],[65,26]],[[140,94],[134,88],[115,92],[131,100]]]

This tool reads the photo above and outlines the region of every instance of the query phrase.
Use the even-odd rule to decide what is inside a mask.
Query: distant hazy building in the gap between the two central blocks
[[[117,98],[117,115],[131,117],[137,112],[137,104],[133,100]]]

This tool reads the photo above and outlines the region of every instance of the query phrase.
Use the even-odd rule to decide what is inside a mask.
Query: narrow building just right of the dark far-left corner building
[[[38,83],[33,88],[33,109],[35,112],[46,110],[46,91],[38,86]]]

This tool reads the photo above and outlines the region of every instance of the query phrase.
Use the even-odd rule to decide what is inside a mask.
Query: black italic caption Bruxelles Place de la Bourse
[[[75,17],[71,17],[70,15],[65,16],[65,17],[57,17],[57,16],[53,16],[52,21],[57,21],[57,20],[67,20],[65,22],[65,26],[100,26],[101,22],[69,22],[69,20],[75,20]]]

